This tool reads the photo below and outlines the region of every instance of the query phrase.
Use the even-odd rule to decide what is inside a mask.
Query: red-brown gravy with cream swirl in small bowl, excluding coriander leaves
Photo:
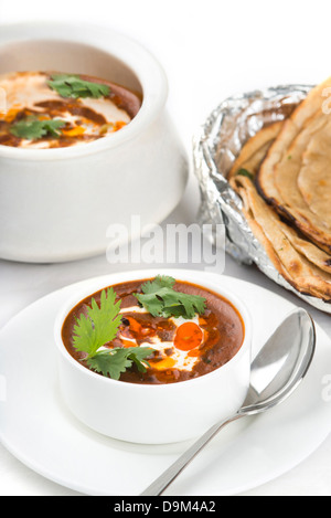
[[[118,299],[121,299],[121,325],[117,337],[106,347],[132,347],[132,339],[137,346],[156,347],[163,343],[163,349],[156,350],[149,358],[150,368],[141,373],[134,366],[120,376],[120,381],[143,384],[164,384],[191,380],[206,374],[227,363],[241,349],[245,327],[237,309],[225,298],[206,290],[197,285],[177,282],[174,289],[206,299],[206,310],[199,318],[199,326],[193,325],[194,332],[189,350],[181,348],[181,329],[190,326],[192,320],[152,317],[149,313],[132,310],[138,306],[135,293],[141,293],[140,286],[146,281],[135,281],[113,286]],[[73,334],[76,318],[86,313],[86,306],[92,298],[99,304],[100,292],[86,297],[77,304],[67,315],[62,339],[70,355],[84,367],[84,353],[77,352],[73,346]],[[197,334],[196,334],[197,330]],[[203,340],[199,339],[199,334]],[[119,337],[120,336],[120,337]],[[126,339],[129,341],[127,342]],[[181,348],[178,349],[177,346]],[[192,348],[191,348],[192,347]],[[188,348],[184,348],[188,349]],[[180,364],[179,364],[180,363]],[[102,374],[100,374],[102,376]]]

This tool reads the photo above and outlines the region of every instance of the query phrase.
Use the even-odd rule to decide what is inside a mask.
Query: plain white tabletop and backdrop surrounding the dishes
[[[136,38],[154,52],[166,68],[169,109],[189,152],[195,128],[227,95],[280,83],[318,83],[331,73],[328,59],[331,6],[323,0],[313,3],[279,0],[268,9],[263,0],[95,0],[93,9],[90,2],[79,2],[79,9],[77,3],[58,0],[56,14],[55,10],[50,14],[45,2],[0,0],[0,22],[78,19],[108,24]],[[194,221],[197,203],[199,193],[192,179],[169,221]],[[130,265],[111,265],[105,256],[63,265],[2,261],[0,325],[58,287],[119,269],[130,269]],[[227,257],[225,273],[265,286],[310,309],[254,267],[239,266]],[[311,314],[331,336],[330,316],[317,310]],[[0,482],[1,495],[71,494],[26,468],[3,447],[0,447]],[[331,438],[299,466],[246,495],[330,496]]]

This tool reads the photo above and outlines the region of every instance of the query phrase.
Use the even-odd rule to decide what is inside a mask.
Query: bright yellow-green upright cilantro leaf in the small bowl
[[[115,303],[116,293],[113,288],[103,289],[100,307],[92,298],[92,307],[87,308],[87,317],[82,314],[74,326],[74,347],[77,351],[93,356],[105,343],[114,340],[121,323],[119,315],[120,302]]]

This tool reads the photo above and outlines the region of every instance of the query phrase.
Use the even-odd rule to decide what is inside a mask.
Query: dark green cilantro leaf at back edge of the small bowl
[[[173,289],[172,277],[157,276],[141,286],[142,294],[135,294],[138,302],[153,316],[193,318],[195,313],[204,314],[205,298]]]

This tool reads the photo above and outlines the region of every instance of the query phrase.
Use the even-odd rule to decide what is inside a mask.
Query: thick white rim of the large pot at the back
[[[57,41],[82,44],[113,55],[136,75],[142,88],[142,104],[134,119],[120,131],[111,135],[111,138],[56,149],[21,149],[0,145],[0,157],[40,161],[84,157],[107,151],[141,135],[141,131],[153,123],[166,106],[169,93],[166,72],[157,57],[131,36],[95,23],[31,21],[0,24],[0,47],[28,40],[29,42]]]

